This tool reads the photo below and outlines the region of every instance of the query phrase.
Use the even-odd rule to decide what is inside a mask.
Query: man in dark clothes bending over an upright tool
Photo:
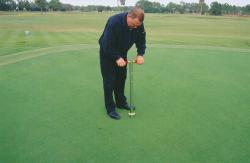
[[[137,48],[135,63],[139,65],[144,63],[146,33],[143,20],[144,11],[140,7],[134,7],[128,13],[114,15],[109,18],[99,39],[105,107],[108,116],[113,119],[120,119],[116,107],[130,110],[124,95],[127,52],[135,43]]]

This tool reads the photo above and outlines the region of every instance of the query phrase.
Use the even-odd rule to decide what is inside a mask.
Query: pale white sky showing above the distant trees
[[[126,0],[127,6],[134,6],[138,0]],[[159,2],[161,4],[168,4],[169,2],[179,3],[181,0],[149,0],[151,2]],[[183,2],[199,2],[199,0],[182,0]],[[205,0],[209,5],[216,0]],[[117,0],[60,0],[62,3],[69,3],[73,5],[104,5],[104,6],[116,6]],[[250,4],[250,0],[217,0],[219,3],[228,3],[230,5],[245,6]]]

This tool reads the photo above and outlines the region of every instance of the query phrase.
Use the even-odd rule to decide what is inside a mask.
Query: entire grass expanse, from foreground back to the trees
[[[97,44],[112,14],[0,13],[0,162],[249,162],[250,18],[147,14],[136,117],[114,121]]]

